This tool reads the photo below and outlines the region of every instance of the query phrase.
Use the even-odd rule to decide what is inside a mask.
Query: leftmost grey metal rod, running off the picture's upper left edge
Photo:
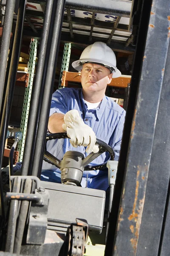
[[[5,76],[6,76],[6,65],[7,65],[7,58],[8,58],[9,43],[11,38],[14,6],[15,6],[15,0],[8,0],[6,2],[2,42],[0,47],[0,112],[2,107],[3,89],[4,89]]]

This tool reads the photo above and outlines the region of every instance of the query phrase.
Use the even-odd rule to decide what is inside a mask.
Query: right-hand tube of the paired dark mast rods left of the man
[[[33,168],[32,168],[32,175],[34,176],[38,175],[38,177],[40,177],[40,174],[41,174],[43,153],[45,150],[45,137],[47,133],[48,116],[49,116],[51,97],[52,97],[52,92],[54,87],[54,76],[55,76],[55,70],[57,66],[59,43],[60,43],[60,36],[61,36],[61,29],[62,29],[62,20],[64,16],[64,7],[65,7],[65,0],[58,0],[56,11],[55,11],[55,19],[54,19],[55,29],[53,30],[53,35],[51,40],[52,43],[50,48],[47,74],[45,78],[44,94],[42,99],[43,104],[41,106],[41,111],[40,111],[40,120],[38,125],[37,140],[36,140],[36,147],[35,147],[34,161],[33,161]]]

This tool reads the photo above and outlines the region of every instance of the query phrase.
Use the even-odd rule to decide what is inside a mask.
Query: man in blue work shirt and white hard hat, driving
[[[96,137],[110,145],[119,158],[125,111],[112,99],[105,96],[107,84],[112,77],[121,75],[116,68],[114,52],[105,43],[95,42],[86,47],[78,61],[72,66],[81,71],[82,89],[63,88],[54,92],[51,101],[48,130],[51,133],[67,131],[69,139],[47,142],[47,150],[58,159],[62,159],[68,150],[79,151],[86,157],[91,151],[97,152]],[[109,154],[103,153],[91,165],[109,160]],[[85,171],[81,185],[95,189],[108,189],[107,170]],[[60,181],[57,167],[44,162],[41,180]]]

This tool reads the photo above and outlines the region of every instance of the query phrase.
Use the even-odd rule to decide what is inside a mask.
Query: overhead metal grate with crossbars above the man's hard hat
[[[46,1],[32,0],[32,2],[28,0],[24,35],[30,38],[40,38]],[[131,44],[131,30],[129,31],[131,1],[105,0],[102,5],[103,13],[102,10],[99,10],[99,6],[93,8],[94,1],[92,0],[89,8],[87,3],[82,3],[81,0],[79,2],[74,0],[73,2],[75,6],[72,6],[70,0],[68,3],[66,1],[62,24],[62,42],[89,45],[93,41],[103,41],[109,44],[113,50],[119,51],[120,48],[124,52],[134,52],[135,47]],[[122,6],[122,10],[116,9],[118,2],[119,6]],[[110,7],[106,10],[108,3]],[[114,9],[111,10],[112,8]],[[16,16],[14,15],[14,20]],[[83,43],[81,38],[83,38]],[[116,43],[116,47],[114,47],[114,43]]]

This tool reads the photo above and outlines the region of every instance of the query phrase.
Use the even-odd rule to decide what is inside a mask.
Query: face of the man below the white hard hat
[[[87,63],[82,67],[81,82],[85,91],[104,91],[110,84],[112,73],[108,68],[98,64]]]

